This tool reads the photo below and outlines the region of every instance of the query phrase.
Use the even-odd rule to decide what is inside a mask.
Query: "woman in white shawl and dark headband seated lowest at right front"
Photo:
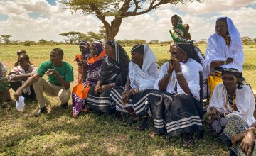
[[[241,78],[242,73],[238,69],[223,69],[223,84],[215,87],[207,108],[209,116],[206,123],[213,133],[230,147],[230,155],[242,153],[238,140],[242,140],[246,130],[256,121],[253,116],[255,99],[252,90],[240,82]],[[243,134],[237,135],[239,133]]]

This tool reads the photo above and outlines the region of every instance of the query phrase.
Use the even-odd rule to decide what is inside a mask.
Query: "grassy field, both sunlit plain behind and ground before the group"
[[[206,45],[198,45],[203,52]],[[150,45],[156,54],[159,65],[169,59],[169,45]],[[79,53],[77,45],[54,46],[0,46],[0,60],[9,71],[16,62],[16,51],[25,49],[31,62],[39,66],[49,60],[53,48],[62,48],[65,52],[64,61],[74,67],[75,81],[78,80],[78,68],[73,61]],[[124,47],[128,55],[131,46]],[[253,81],[256,75],[256,46],[244,47],[245,64],[243,74],[245,79],[256,89]],[[46,78],[46,77],[45,77]],[[11,90],[11,96],[14,92]],[[38,104],[26,101],[23,111],[17,111],[15,102],[10,101],[9,107],[0,108],[0,155],[228,155],[228,148],[220,140],[209,134],[208,128],[204,138],[196,139],[196,144],[184,149],[180,136],[174,138],[149,138],[153,125],[144,132],[124,127],[114,120],[114,115],[99,114],[93,111],[81,113],[78,118],[72,118],[72,108],[60,108],[57,98],[48,99],[49,114],[34,118]],[[12,99],[14,97],[12,96]],[[69,101],[71,104],[71,100]]]

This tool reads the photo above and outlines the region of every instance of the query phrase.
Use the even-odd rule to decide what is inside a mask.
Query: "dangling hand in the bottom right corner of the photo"
[[[252,151],[255,145],[255,132],[254,130],[248,130],[245,138],[242,139],[240,149],[245,155],[252,155]]]

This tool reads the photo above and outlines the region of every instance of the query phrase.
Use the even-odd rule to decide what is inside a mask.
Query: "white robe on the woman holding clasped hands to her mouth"
[[[199,84],[199,71],[203,71],[203,67],[193,59],[188,59],[188,62],[182,63],[181,65],[181,72],[183,73],[184,78],[188,82],[188,87],[191,90],[193,96],[196,96],[196,99],[200,99],[199,91],[200,91],[200,84]],[[169,62],[164,63],[161,67],[161,72],[159,74],[159,78],[156,80],[154,85],[154,89],[159,90],[159,81],[164,77],[166,74],[167,69],[169,68]],[[176,94],[174,90],[176,84],[176,73],[175,71],[172,72],[171,77],[169,79],[166,91],[169,93]],[[181,89],[181,86],[178,84],[177,81],[177,93],[178,94],[185,94],[185,92]]]

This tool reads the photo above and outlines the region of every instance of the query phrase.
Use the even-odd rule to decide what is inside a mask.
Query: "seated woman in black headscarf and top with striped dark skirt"
[[[105,43],[107,57],[102,62],[102,69],[97,84],[88,91],[87,103],[93,111],[114,113],[116,106],[110,101],[110,91],[115,86],[124,87],[128,74],[129,57],[119,43],[108,40]]]

